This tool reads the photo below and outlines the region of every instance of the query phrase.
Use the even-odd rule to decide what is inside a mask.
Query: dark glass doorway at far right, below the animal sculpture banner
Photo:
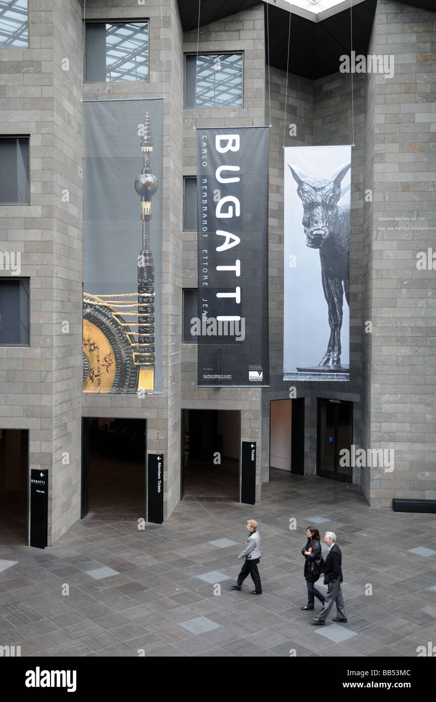
[[[351,444],[352,402],[318,399],[317,475],[352,482],[352,466],[339,463],[340,451],[348,449],[350,456]]]

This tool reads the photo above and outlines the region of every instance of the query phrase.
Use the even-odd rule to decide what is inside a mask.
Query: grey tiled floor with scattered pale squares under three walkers
[[[2,520],[0,559],[17,563],[0,573],[0,644],[36,657],[416,656],[436,642],[436,515],[369,509],[358,489],[328,479],[272,478],[254,508],[183,501],[140,531],[143,515],[124,520],[117,505],[44,551],[17,545],[19,528]],[[263,595],[249,594],[250,580],[230,588],[249,518]],[[333,608],[316,627],[300,609],[300,550],[315,521],[343,552],[346,624],[331,621]]]

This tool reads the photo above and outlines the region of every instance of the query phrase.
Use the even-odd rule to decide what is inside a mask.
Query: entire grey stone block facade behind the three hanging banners
[[[29,48],[0,49],[0,133],[30,136],[31,171],[30,205],[0,206],[0,249],[22,253],[32,300],[30,347],[0,347],[0,428],[28,429],[30,468],[49,470],[49,545],[80,518],[82,416],[147,418],[147,448],[164,453],[169,519],[180,497],[181,410],[239,410],[241,438],[262,447],[260,499],[270,400],[288,397],[291,385],[282,372],[283,146],[352,143],[350,74],[316,81],[289,74],[286,88],[286,74],[266,65],[263,4],[200,29],[200,53],[244,52],[244,103],[234,108],[184,109],[184,55],[197,51],[197,32],[183,35],[176,0],[134,6],[87,0],[86,19],[114,18],[150,19],[149,81],[82,87],[78,0],[29,0]],[[308,474],[315,473],[317,397],[355,403],[357,447],[395,449],[393,472],[353,473],[371,506],[388,506],[394,497],[436,498],[435,272],[416,266],[418,252],[436,250],[435,42],[435,13],[378,0],[369,53],[394,54],[395,75],[353,77],[350,383],[296,383],[305,397]],[[81,99],[144,97],[164,98],[164,392],[145,399],[83,395]],[[270,119],[271,387],[197,388],[196,349],[182,343],[182,290],[197,286],[197,237],[183,232],[194,127],[261,126]],[[295,137],[289,124],[296,124]],[[383,222],[387,217],[409,219]],[[372,333],[364,331],[367,321]]]

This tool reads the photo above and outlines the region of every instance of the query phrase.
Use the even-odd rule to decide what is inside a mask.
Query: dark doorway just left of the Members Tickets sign
[[[147,420],[83,418],[81,518],[145,518]]]

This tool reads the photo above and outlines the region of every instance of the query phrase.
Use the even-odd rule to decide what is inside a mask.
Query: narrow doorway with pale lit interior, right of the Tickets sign
[[[270,479],[304,475],[304,397],[270,402]]]

